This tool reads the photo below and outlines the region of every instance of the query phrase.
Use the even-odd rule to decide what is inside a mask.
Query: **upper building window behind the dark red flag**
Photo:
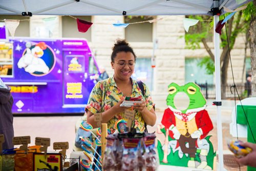
[[[92,21],[92,16],[76,16],[76,18]],[[72,38],[86,38],[88,41],[92,41],[92,29],[88,29],[86,33],[81,33],[77,29],[76,19],[70,16],[62,16],[62,37]]]

